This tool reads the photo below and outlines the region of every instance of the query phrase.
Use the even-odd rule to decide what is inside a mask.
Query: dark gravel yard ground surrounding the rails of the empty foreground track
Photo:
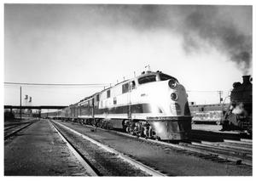
[[[69,127],[70,129],[67,129]],[[197,127],[197,126],[196,126]],[[199,126],[198,126],[199,127]],[[73,131],[71,131],[73,130]],[[60,133],[67,139],[63,141]],[[109,152],[87,136],[119,154]],[[37,120],[4,141],[5,176],[90,176],[67,146],[79,152],[100,176],[148,176],[146,167],[166,176],[252,176],[251,166],[202,156],[168,146],[129,138],[108,130],[92,129],[79,123]],[[131,158],[137,165],[119,155]]]

